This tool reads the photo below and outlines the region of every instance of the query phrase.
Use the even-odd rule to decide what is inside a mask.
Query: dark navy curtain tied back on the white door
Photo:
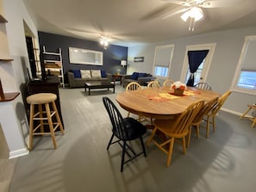
[[[187,86],[194,86],[194,72],[197,71],[199,65],[202,64],[203,59],[205,59],[206,55],[209,53],[209,50],[199,50],[199,51],[189,51],[189,65],[190,65],[190,77],[187,82]]]

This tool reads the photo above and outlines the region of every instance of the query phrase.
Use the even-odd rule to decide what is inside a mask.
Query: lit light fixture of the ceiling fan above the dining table
[[[180,16],[184,22],[186,22],[190,18],[190,31],[194,31],[195,23],[203,18],[203,10],[198,7],[192,7],[188,11],[184,12],[183,15]]]

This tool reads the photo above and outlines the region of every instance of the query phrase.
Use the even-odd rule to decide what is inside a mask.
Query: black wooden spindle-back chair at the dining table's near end
[[[147,129],[139,121],[136,121],[134,118],[126,117],[122,118],[122,115],[116,105],[109,99],[109,97],[103,97],[103,104],[109,114],[110,121],[112,123],[112,136],[109,140],[107,150],[109,146],[115,143],[118,143],[122,146],[122,162],[121,162],[121,172],[123,170],[123,164],[128,163],[129,161],[137,158],[141,154],[144,154],[147,157],[144,142],[142,136],[146,133]],[[114,141],[116,137],[116,141]],[[128,146],[127,141],[134,139],[140,139],[142,152],[135,153],[131,146]],[[131,155],[129,152],[132,152]],[[125,153],[128,155],[128,159],[125,160]]]

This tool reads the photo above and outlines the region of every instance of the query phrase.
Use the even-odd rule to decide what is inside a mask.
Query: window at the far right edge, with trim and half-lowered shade
[[[232,90],[256,95],[256,35],[247,36],[234,74]]]

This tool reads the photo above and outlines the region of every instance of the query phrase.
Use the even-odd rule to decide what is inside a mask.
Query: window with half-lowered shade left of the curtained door
[[[170,76],[173,45],[156,46],[153,61],[153,75],[159,78]]]

